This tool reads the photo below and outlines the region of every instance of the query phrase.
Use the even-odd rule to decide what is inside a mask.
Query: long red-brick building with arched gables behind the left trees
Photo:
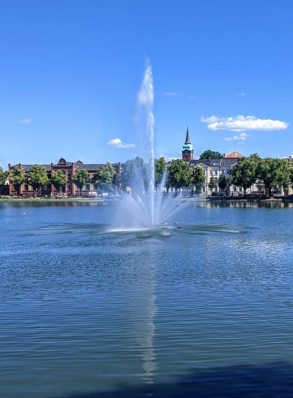
[[[114,163],[112,164],[116,170],[116,186],[120,189],[120,175],[121,175],[121,163]],[[11,165],[8,164],[8,170],[10,171],[14,167],[20,167],[22,170],[25,171],[25,173],[28,173],[30,171],[32,164],[15,164]],[[64,196],[70,196],[70,195],[78,195],[79,194],[79,189],[77,186],[74,184],[74,182],[71,179],[71,176],[74,174],[74,172],[78,169],[85,169],[90,178],[93,177],[93,175],[96,173],[97,169],[100,167],[103,167],[104,164],[100,163],[93,163],[93,164],[84,164],[81,160],[77,160],[76,162],[67,162],[64,158],[59,159],[58,163],[54,164],[43,164],[43,166],[46,168],[46,172],[48,175],[48,178],[50,179],[52,176],[52,173],[54,173],[57,170],[63,171],[63,173],[66,176],[66,185],[61,188],[60,194]],[[82,195],[86,195],[87,192],[89,191],[97,191],[98,186],[95,184],[92,184],[91,182],[87,183],[84,185],[83,191],[81,192]],[[8,189],[6,188],[7,195],[18,195],[18,192],[20,195],[34,195],[35,190],[33,187],[31,187],[29,184],[22,184],[19,190],[13,186],[11,182],[8,183]],[[43,195],[57,195],[58,191],[55,189],[53,184],[44,184],[42,186],[42,194]]]

